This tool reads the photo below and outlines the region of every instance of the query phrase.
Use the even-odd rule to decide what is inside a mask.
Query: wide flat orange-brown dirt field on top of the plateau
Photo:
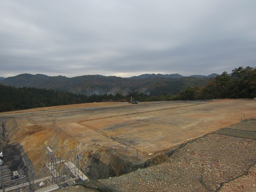
[[[94,142],[127,156],[169,151],[188,140],[256,117],[256,100],[101,102],[1,113],[0,121],[19,118],[24,126],[55,124],[84,147]]]

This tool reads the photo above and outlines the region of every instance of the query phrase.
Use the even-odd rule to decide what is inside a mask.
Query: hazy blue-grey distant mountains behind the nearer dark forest
[[[55,89],[76,94],[122,94],[144,93],[147,95],[178,94],[187,86],[205,86],[218,74],[208,76],[180,74],[143,74],[128,78],[103,75],[83,75],[68,78],[65,76],[47,76],[43,74],[20,74],[14,77],[0,77],[0,83],[14,87]]]

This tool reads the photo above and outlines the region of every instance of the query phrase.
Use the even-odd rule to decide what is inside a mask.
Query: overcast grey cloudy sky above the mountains
[[[256,66],[255,0],[0,0],[0,76]]]

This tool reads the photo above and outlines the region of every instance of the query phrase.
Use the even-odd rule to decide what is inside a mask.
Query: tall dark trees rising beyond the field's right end
[[[256,68],[239,67],[231,75],[224,71],[204,87],[187,87],[177,97],[179,100],[255,98]]]

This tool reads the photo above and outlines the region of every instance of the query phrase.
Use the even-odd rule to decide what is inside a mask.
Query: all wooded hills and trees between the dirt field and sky
[[[90,81],[84,80],[89,78],[89,76],[76,77],[83,80],[73,84],[69,78],[63,76],[48,77],[46,75],[23,74],[16,76],[18,79],[12,78],[13,83],[20,86],[21,82],[26,82],[30,83],[31,87],[16,88],[0,84],[0,112],[84,102],[127,102],[131,96],[138,101],[255,98],[255,69],[239,67],[232,70],[231,75],[223,72],[215,78],[166,78],[160,75],[147,75],[130,79],[92,75],[90,76]],[[32,87],[34,83],[38,83],[37,87],[44,84],[39,82],[38,79],[40,78],[52,79],[52,86],[48,87],[48,89]],[[31,79],[35,79],[35,81],[32,82]],[[54,79],[58,80],[54,81]],[[79,92],[78,90],[89,90],[88,93],[91,92],[92,94],[77,94],[63,91],[65,89],[62,89],[62,91],[61,89],[59,91],[53,89],[55,87],[64,88],[65,84],[66,90],[72,89],[73,91],[77,90],[77,92]],[[127,87],[125,87],[125,84]],[[95,90],[101,91],[99,91],[99,94],[96,94]],[[113,90],[115,94],[102,90]]]

